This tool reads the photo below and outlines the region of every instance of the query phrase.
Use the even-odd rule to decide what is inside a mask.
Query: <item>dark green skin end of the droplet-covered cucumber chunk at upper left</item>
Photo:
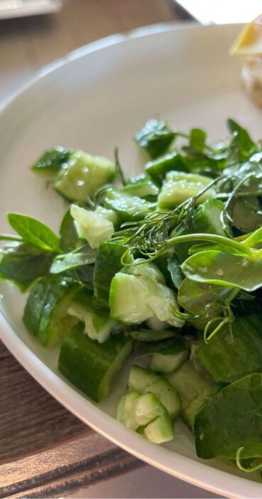
[[[68,162],[70,153],[70,150],[60,147],[47,150],[41,155],[41,158],[36,161],[31,170],[47,177],[57,177],[61,168],[63,168],[63,164]]]

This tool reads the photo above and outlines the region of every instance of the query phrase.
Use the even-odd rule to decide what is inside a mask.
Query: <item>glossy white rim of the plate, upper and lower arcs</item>
[[[33,86],[44,76],[48,75],[48,73],[56,71],[57,68],[66,65],[69,61],[85,56],[88,53],[103,50],[108,46],[122,43],[129,38],[140,38],[163,31],[191,29],[192,26],[194,28],[206,30],[211,28],[219,29],[219,26],[201,26],[192,21],[181,24],[174,24],[172,22],[161,23],[151,26],[142,26],[141,28],[127,32],[127,34],[115,34],[100,38],[98,41],[77,48],[75,51],[68,53],[65,57],[53,61],[37,71],[36,76],[30,78],[25,86],[21,87],[19,91],[14,93],[14,95],[4,103],[4,105],[0,106],[0,120],[2,113],[6,111],[9,106],[12,106],[15,103],[16,98],[20,98],[23,92],[27,91],[28,88]],[[224,28],[226,26],[231,25],[223,25]],[[120,425],[115,418],[104,413],[100,408],[95,407],[92,402],[81,396],[80,393],[75,391],[71,386],[68,386],[66,381],[59,378],[56,373],[51,371],[51,369],[41,361],[41,359],[38,359],[38,356],[33,354],[28,346],[26,346],[19,336],[16,335],[16,332],[9,324],[9,321],[1,312],[0,339],[26,371],[28,371],[46,391],[51,393],[58,402],[65,406],[68,411],[125,451],[132,453],[132,455],[140,458],[142,461],[145,461],[170,475],[213,493],[230,498],[261,497],[262,485],[260,483],[241,478],[217,468],[211,468],[208,464],[205,464],[204,461],[194,461],[192,458],[187,458],[174,451],[169,451],[167,448],[156,446],[148,441],[144,441],[144,439],[136,433],[127,430]],[[73,407],[73,401],[75,401],[75,406],[78,408]],[[88,416],[83,416],[83,414],[87,412]],[[132,441],[132,445],[130,445],[130,441]],[[160,461],[157,456],[160,456]],[[185,472],[185,470],[187,470],[187,472]],[[199,476],[201,475],[205,478],[200,479]],[[209,478],[207,478],[207,475],[209,475]],[[236,482],[239,483],[239,486],[237,487]],[[237,493],[236,488],[239,490]]]

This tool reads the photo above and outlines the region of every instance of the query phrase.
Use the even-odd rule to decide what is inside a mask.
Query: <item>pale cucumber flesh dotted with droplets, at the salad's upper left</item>
[[[112,161],[75,150],[70,153],[68,163],[63,165],[54,187],[67,200],[85,204],[98,187],[115,177],[115,173]]]

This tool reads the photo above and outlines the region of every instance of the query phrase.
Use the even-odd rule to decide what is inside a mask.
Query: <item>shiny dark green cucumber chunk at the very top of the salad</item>
[[[154,159],[167,151],[175,136],[163,120],[150,120],[136,133],[135,141]]]

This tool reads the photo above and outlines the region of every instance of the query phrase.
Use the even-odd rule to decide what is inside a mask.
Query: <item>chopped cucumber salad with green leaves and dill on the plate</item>
[[[101,401],[132,353],[117,420],[154,443],[177,418],[196,453],[262,467],[262,144],[236,121],[210,145],[150,120],[145,172],[81,150],[31,168],[68,202],[59,234],[19,213],[0,277],[28,292],[23,323],[58,369]],[[42,179],[41,179],[42,177]],[[143,360],[143,365],[141,359]]]

